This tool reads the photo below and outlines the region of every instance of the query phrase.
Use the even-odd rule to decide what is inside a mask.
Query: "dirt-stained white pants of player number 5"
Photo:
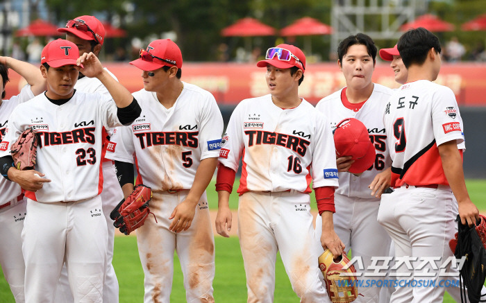
[[[215,278],[215,238],[212,234],[208,198],[203,193],[189,230],[169,231],[169,217],[189,191],[154,191],[149,208],[152,215],[137,229],[138,252],[144,270],[144,302],[169,303],[174,275],[174,250],[184,275],[187,302],[215,302],[212,280]]]

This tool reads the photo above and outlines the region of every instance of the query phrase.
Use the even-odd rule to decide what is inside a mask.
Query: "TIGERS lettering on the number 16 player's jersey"
[[[280,134],[278,132],[265,132],[262,130],[245,130],[248,135],[248,147],[260,144],[271,144],[282,146],[298,153],[302,157],[307,152],[310,141],[291,135]]]

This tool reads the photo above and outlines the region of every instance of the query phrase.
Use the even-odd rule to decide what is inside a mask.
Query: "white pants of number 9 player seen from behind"
[[[378,222],[385,227],[395,243],[395,257],[418,257],[417,261],[411,262],[413,270],[408,270],[403,264],[396,269],[397,274],[411,273],[410,277],[403,279],[415,279],[417,282],[421,280],[426,285],[439,285],[441,279],[448,278],[439,277],[439,270],[434,269],[430,263],[423,266],[424,261],[420,258],[439,258],[435,264],[440,268],[442,262],[453,255],[449,249],[449,240],[455,233],[454,202],[451,189],[443,186],[439,189],[403,186],[382,196]],[[435,275],[424,275],[426,270]],[[444,287],[399,286],[392,294],[390,302],[442,302],[444,291]]]

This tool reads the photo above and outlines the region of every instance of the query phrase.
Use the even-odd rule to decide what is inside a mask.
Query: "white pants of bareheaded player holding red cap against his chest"
[[[355,270],[361,276],[362,287],[358,286],[358,293],[361,295],[355,300],[356,303],[374,302],[378,303],[380,288],[376,282],[385,277],[367,277],[364,274],[374,272],[369,266],[373,264],[371,257],[388,257],[389,246],[392,241],[386,230],[378,223],[378,207],[380,199],[355,198],[335,194],[334,203],[336,212],[333,215],[334,230],[341,241],[346,245],[346,253],[352,250],[352,257],[362,259],[363,268],[355,263]],[[322,218],[316,219],[316,237],[321,240]],[[380,261],[381,265],[383,261]],[[374,264],[378,265],[378,264]],[[369,287],[367,287],[367,285]]]

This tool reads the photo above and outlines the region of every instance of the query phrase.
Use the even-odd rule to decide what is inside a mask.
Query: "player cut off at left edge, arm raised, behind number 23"
[[[5,97],[5,85],[8,82],[8,69],[13,69],[28,83],[17,96],[10,100],[0,100],[0,139],[3,139],[8,123],[8,117],[14,108],[34,96],[44,92],[46,80],[40,70],[19,60],[0,57],[0,92]],[[22,239],[20,234],[24,227],[26,203],[24,194],[17,183],[0,178],[0,266],[3,275],[10,285],[15,302],[25,302],[24,276],[25,266],[22,257]]]

